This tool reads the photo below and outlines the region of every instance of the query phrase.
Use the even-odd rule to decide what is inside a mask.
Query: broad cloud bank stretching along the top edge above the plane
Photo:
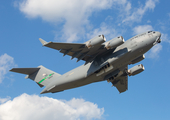
[[[102,31],[110,26],[106,24],[105,27],[99,25],[102,28],[93,28],[90,17],[93,17],[97,12],[114,10],[117,13],[113,19],[114,21],[119,21],[121,24],[133,23],[141,21],[143,15],[148,10],[153,10],[157,2],[158,0],[147,0],[145,5],[139,4],[136,8],[132,7],[132,3],[128,0],[19,0],[15,2],[15,6],[27,18],[41,18],[53,25],[62,26],[61,33],[58,33],[62,34],[60,39],[73,42],[82,39],[84,36],[86,37],[86,33],[88,35],[92,33],[98,35],[96,31],[99,30],[96,29]],[[96,21],[101,19],[99,16],[95,17]],[[116,28],[112,26],[108,29],[107,31],[113,31]],[[58,38],[58,35],[56,37]]]

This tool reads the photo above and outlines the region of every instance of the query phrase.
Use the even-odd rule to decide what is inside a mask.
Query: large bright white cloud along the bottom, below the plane
[[[104,108],[84,99],[57,100],[22,94],[0,105],[0,120],[79,120],[101,119]]]

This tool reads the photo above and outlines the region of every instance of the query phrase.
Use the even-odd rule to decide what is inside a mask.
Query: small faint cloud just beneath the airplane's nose
[[[159,58],[159,53],[161,50],[162,50],[162,45],[157,44],[146,54],[146,56],[152,59]]]

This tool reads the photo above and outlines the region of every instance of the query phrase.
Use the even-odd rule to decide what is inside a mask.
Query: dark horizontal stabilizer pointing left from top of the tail
[[[32,73],[38,71],[40,68],[13,68],[10,71],[22,73],[26,75],[31,75]]]

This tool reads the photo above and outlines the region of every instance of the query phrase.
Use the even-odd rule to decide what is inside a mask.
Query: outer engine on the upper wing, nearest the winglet
[[[106,42],[106,38],[104,37],[104,35],[99,35],[85,42],[85,44],[87,48],[91,48],[95,45],[102,44],[104,42]]]

